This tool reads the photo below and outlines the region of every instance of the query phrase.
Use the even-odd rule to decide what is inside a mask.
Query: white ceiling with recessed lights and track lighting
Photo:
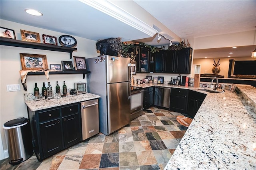
[[[100,1],[104,8],[108,4],[103,2]],[[256,26],[255,0],[134,0],[134,2],[181,39],[245,32],[255,30]],[[123,3],[129,2],[123,1]],[[122,37],[122,41],[137,40],[149,45],[170,43],[164,38],[159,43],[157,34],[154,33],[155,35],[152,36],[143,31],[144,28],[134,28],[137,24],[136,16],[130,19],[133,25],[127,24],[118,18],[120,16],[110,16],[88,4],[90,0],[0,0],[0,18],[90,40]],[[25,8],[34,8],[44,15],[42,17],[30,16],[24,12]],[[160,31],[157,27],[154,29],[155,32]],[[164,32],[161,34],[165,35]],[[172,37],[168,38],[172,39]],[[239,56],[250,56],[250,53],[244,53],[248,53],[247,50],[254,51],[253,46],[238,47],[235,50],[237,54],[239,51]],[[194,58],[226,57],[228,51],[227,48],[194,50]],[[235,57],[235,54],[232,57]]]

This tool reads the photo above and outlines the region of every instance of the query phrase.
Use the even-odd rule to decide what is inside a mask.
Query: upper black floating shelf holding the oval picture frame
[[[25,42],[21,40],[15,40],[11,38],[2,38],[0,39],[1,45],[13,46],[13,47],[24,47],[24,48],[33,48],[33,49],[44,49],[50,51],[60,51],[70,53],[70,59],[72,58],[73,51],[77,51],[76,48],[71,47],[63,47],[52,44],[44,44],[44,43],[35,43],[35,42]]]

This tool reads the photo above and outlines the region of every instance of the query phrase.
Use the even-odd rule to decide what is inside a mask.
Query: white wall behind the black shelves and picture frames
[[[64,35],[60,32],[54,32],[50,30],[18,24],[6,20],[1,20],[1,26],[4,28],[14,30],[17,40],[21,40],[20,29],[39,33],[41,43],[42,34],[56,36],[57,39],[59,38],[59,36]],[[95,41],[76,36],[73,37],[76,38],[77,41],[77,51],[73,52],[73,56],[91,58],[100,55],[96,51]],[[58,45],[60,45],[60,43],[58,43]],[[73,61],[73,57],[72,59],[70,59],[69,53],[64,52],[30,49],[22,47],[11,47],[5,45],[0,45],[0,50],[0,127],[2,127],[4,123],[12,119],[17,119],[18,117],[28,118],[27,109],[23,98],[24,93],[33,93],[34,83],[36,82],[41,91],[42,82],[47,81],[45,75],[28,75],[26,79],[28,91],[23,90],[19,74],[19,71],[22,69],[20,63],[20,53],[46,55],[48,67],[50,67],[50,64],[61,64],[61,61]],[[56,86],[56,81],[59,81],[59,85],[61,87],[63,85],[63,81],[66,81],[67,88],[73,88],[74,82],[86,82],[86,77],[85,79],[83,79],[82,74],[50,75],[49,81],[51,82],[51,85],[53,87]],[[7,92],[6,85],[9,84],[20,84],[21,91]],[[4,150],[6,150],[6,140],[4,136],[4,130],[2,128],[1,134],[3,148]]]

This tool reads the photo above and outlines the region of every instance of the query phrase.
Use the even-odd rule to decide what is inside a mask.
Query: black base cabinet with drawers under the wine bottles
[[[38,160],[82,141],[80,103],[31,111],[33,149]]]

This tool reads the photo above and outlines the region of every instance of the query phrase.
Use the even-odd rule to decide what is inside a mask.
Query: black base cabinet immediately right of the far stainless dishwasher
[[[186,113],[188,89],[171,88],[170,110]]]

